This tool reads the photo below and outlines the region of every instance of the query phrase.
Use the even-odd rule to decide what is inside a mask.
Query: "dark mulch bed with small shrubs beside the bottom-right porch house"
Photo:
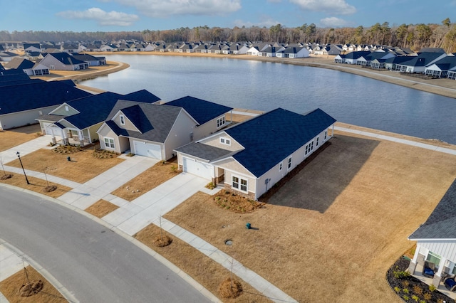
[[[429,285],[421,282],[413,276],[396,278],[394,272],[406,271],[409,260],[401,257],[397,260],[393,266],[390,267],[386,274],[386,280],[390,284],[393,292],[403,299],[404,302],[438,302],[438,303],[455,303],[454,299],[451,299],[442,292],[434,290],[433,292],[429,289]],[[416,299],[418,297],[418,300]]]

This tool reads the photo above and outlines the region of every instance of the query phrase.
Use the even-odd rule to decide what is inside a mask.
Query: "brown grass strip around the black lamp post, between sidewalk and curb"
[[[36,193],[43,193],[43,195],[50,196],[51,198],[58,198],[63,195],[63,193],[67,193],[68,191],[71,191],[72,188],[69,188],[67,186],[63,186],[60,184],[55,184],[52,182],[46,182],[46,180],[43,179],[38,179],[34,178],[32,176],[27,176],[28,182],[30,184],[27,184],[26,182],[26,177],[24,174],[11,174],[12,177],[10,179],[6,180],[1,180],[1,183],[4,184],[9,184],[12,186],[17,186],[21,188],[26,188],[30,191],[35,191]],[[3,171],[1,171],[1,176],[4,176]],[[45,191],[45,188],[47,186],[56,186],[55,191]]]

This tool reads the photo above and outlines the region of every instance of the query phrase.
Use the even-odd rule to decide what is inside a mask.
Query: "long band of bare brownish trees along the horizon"
[[[221,28],[197,26],[164,31],[120,32],[73,32],[73,31],[0,31],[0,41],[274,41],[279,43],[320,43],[320,44],[376,44],[410,48],[443,48],[447,53],[456,52],[456,23],[445,18],[441,24],[401,24],[390,26],[388,22],[373,26],[318,28],[314,23],[288,28],[276,24],[269,28],[251,26]]]

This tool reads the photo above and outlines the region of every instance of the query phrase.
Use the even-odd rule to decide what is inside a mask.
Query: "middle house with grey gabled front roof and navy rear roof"
[[[120,100],[98,129],[100,147],[168,160],[178,147],[225,127],[231,110],[190,96],[165,104]]]

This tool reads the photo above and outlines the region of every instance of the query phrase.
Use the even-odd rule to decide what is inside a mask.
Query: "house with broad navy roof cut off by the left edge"
[[[9,74],[8,70],[3,72]],[[11,129],[27,124],[36,124],[36,118],[56,109],[63,102],[86,97],[90,92],[80,90],[71,80],[51,81],[26,80],[28,76],[20,71],[21,78],[12,82],[0,81],[0,128]],[[11,78],[2,76],[0,78]]]

